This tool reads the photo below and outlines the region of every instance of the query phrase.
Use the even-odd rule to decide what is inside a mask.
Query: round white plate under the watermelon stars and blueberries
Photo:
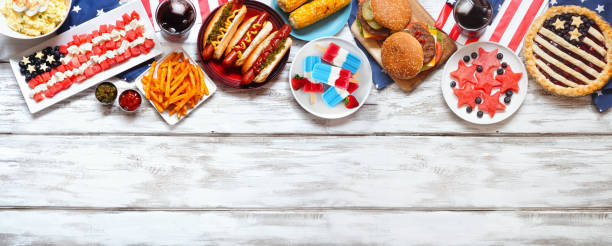
[[[493,116],[493,118],[491,118],[487,112],[484,112],[482,118],[478,118],[478,116],[476,116],[478,112],[478,105],[476,105],[476,108],[472,110],[471,113],[466,112],[467,105],[457,107],[458,99],[457,96],[455,96],[455,93],[453,93],[453,88],[450,86],[451,81],[455,80],[451,78],[450,73],[457,70],[458,62],[462,60],[464,56],[469,56],[472,52],[478,53],[478,48],[483,48],[486,51],[498,49],[498,52],[504,54],[504,59],[502,61],[508,63],[513,72],[523,73],[523,76],[519,81],[519,92],[512,95],[512,101],[510,104],[505,104],[505,95],[501,95],[499,100],[502,104],[506,105],[506,110],[495,112],[495,116]],[[473,59],[470,58],[470,62],[468,62],[467,65],[471,65],[472,61]],[[444,96],[444,100],[446,101],[448,107],[460,118],[474,124],[493,124],[510,117],[519,109],[519,107],[521,107],[521,104],[523,104],[523,101],[527,96],[527,85],[527,72],[525,71],[525,66],[521,62],[521,59],[510,49],[492,42],[476,42],[457,50],[457,52],[455,52],[455,54],[453,54],[446,62],[446,65],[444,66],[444,73],[442,74],[442,79],[440,81],[442,95]],[[497,91],[499,91],[499,89],[493,89],[491,94]]]

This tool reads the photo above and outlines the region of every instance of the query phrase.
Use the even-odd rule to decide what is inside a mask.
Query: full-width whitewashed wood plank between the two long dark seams
[[[2,139],[0,206],[612,207],[609,137]]]

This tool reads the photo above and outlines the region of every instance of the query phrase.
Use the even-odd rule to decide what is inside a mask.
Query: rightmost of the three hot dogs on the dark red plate
[[[282,57],[291,48],[292,40],[289,37],[291,26],[285,24],[280,30],[268,35],[255,51],[249,55],[242,66],[242,83],[261,83],[268,78],[272,69],[280,62]]]

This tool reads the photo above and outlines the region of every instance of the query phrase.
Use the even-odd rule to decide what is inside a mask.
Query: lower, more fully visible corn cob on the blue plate
[[[302,5],[289,15],[295,29],[307,27],[349,5],[351,0],[314,0]]]

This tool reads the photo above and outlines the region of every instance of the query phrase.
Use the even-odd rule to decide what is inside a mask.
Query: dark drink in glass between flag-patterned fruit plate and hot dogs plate
[[[189,36],[195,15],[195,7],[189,0],[165,0],[157,6],[155,20],[164,38],[179,41]]]

